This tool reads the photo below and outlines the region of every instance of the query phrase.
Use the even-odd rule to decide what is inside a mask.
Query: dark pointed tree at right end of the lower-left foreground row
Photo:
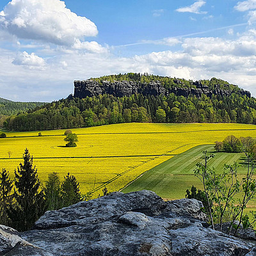
[[[61,200],[62,207],[67,207],[76,204],[81,200],[81,193],[79,189],[79,182],[77,182],[74,175],[68,173],[61,183]]]

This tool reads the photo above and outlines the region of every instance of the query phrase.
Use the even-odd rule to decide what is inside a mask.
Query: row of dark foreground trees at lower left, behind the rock
[[[42,186],[28,149],[23,160],[14,172],[14,180],[5,169],[0,172],[0,224],[19,231],[31,228],[45,211],[58,210],[82,199],[74,175],[67,173],[60,182],[58,173],[50,173]]]

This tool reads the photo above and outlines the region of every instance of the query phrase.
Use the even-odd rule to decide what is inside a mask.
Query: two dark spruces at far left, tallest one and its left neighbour
[[[1,223],[19,231],[31,228],[45,212],[44,192],[27,148],[23,159],[15,170],[14,181],[5,169],[0,175]]]

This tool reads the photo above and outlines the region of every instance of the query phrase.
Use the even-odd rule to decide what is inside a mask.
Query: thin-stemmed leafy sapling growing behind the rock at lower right
[[[229,221],[228,233],[230,234],[235,221],[238,221],[234,235],[236,235],[241,223],[244,227],[248,227],[248,217],[243,216],[243,211],[256,193],[256,180],[252,178],[254,163],[246,152],[245,154],[248,161],[248,171],[242,180],[237,179],[237,163],[225,164],[221,173],[217,173],[214,168],[209,168],[208,161],[213,156],[208,156],[206,151],[203,152],[202,157],[204,163],[196,164],[197,168],[194,171],[196,177],[204,185],[207,212],[212,228],[214,229],[214,225],[218,223],[220,231],[222,231],[223,222]],[[242,199],[238,199],[237,194],[242,195]]]

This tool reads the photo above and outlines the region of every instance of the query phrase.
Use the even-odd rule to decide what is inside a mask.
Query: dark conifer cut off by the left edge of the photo
[[[11,195],[13,184],[9,173],[3,169],[0,173],[0,224],[11,225],[8,218],[8,209],[12,205],[13,195]]]

